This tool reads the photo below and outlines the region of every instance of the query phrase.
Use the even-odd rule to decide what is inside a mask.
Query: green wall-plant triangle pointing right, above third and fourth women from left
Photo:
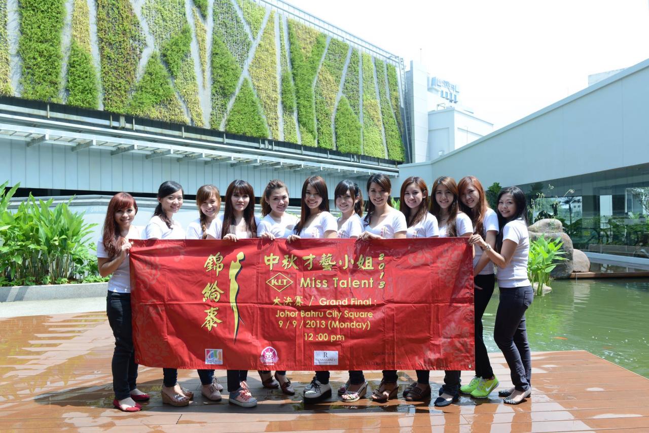
[[[230,95],[234,94],[241,69],[225,43],[214,34],[212,41],[212,129],[219,129]]]

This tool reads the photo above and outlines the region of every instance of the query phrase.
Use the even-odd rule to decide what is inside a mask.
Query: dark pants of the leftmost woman
[[[137,388],[135,382],[138,379],[138,364],[135,363],[130,320],[130,293],[108,291],[106,315],[115,337],[115,351],[111,363],[113,391],[117,400],[123,400],[130,397],[130,391]]]

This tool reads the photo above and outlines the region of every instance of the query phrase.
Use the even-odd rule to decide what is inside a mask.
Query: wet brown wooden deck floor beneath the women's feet
[[[0,430],[649,432],[649,380],[585,351],[535,353],[532,397],[519,406],[502,404],[492,393],[483,401],[462,397],[443,409],[402,399],[387,404],[332,399],[305,407],[300,395],[312,372],[289,372],[297,394],[287,399],[263,390],[251,371],[249,385],[260,404],[243,409],[227,399],[207,403],[196,372],[180,371],[180,382],[197,390],[197,397],[186,408],[172,408],[160,399],[162,371],[140,367],[139,388],[153,398],[141,412],[126,414],[112,408],[113,340],[104,313],[0,319],[0,338]],[[493,354],[491,362],[501,388],[510,386],[502,355]],[[345,374],[332,372],[334,389]],[[217,375],[225,383],[225,372]],[[371,386],[380,375],[367,373]],[[399,375],[404,384],[415,376]],[[432,372],[432,386],[442,377],[443,372]],[[471,377],[463,373],[465,380]]]

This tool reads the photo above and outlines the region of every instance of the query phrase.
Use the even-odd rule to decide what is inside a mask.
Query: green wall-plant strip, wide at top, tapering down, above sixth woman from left
[[[313,80],[326,47],[326,36],[292,19],[288,20],[288,36],[302,145],[315,146]]]

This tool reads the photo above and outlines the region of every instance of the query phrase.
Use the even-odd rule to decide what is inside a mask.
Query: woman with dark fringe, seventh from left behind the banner
[[[338,238],[356,239],[363,232],[363,193],[353,180],[341,180],[334,190],[336,207],[341,216],[337,219]],[[363,371],[349,370],[349,379],[338,388],[338,395],[343,401],[358,401],[367,392],[367,382]]]

